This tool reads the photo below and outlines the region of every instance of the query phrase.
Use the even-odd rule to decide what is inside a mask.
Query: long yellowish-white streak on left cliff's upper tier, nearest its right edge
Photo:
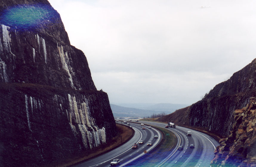
[[[61,45],[61,47],[59,47],[58,44],[57,44],[57,47],[58,47],[59,55],[60,55],[60,58],[61,58],[62,68],[67,71],[71,87],[74,88],[73,79],[72,79],[72,76],[70,74],[70,72],[72,73],[73,70],[72,70],[72,67],[69,67],[67,65],[67,63],[69,62],[69,58],[67,56],[67,52],[64,54],[62,45]]]

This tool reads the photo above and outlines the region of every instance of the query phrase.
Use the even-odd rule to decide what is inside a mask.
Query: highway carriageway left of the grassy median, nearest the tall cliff
[[[82,162],[80,164],[74,165],[75,167],[109,167],[110,162],[113,159],[120,159],[119,166],[125,166],[133,160],[144,155],[144,151],[147,152],[152,150],[160,142],[161,133],[156,129],[149,129],[148,126],[145,126],[145,129],[142,129],[140,124],[130,123],[130,126],[135,130],[135,134],[127,143],[122,146],[107,152],[101,156]],[[158,138],[154,138],[155,135],[158,135]],[[139,140],[144,140],[144,144],[139,144]],[[147,146],[147,143],[152,141],[152,146]],[[134,143],[138,144],[138,149],[132,149]]]

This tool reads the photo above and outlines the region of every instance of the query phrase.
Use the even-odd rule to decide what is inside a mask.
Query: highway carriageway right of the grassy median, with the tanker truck
[[[139,121],[153,126],[165,127],[165,123],[154,123]],[[207,166],[214,157],[213,151],[219,145],[218,141],[211,136],[198,132],[189,128],[176,126],[176,128],[168,128],[178,137],[178,143],[174,150],[166,152],[163,160],[155,167],[171,167],[171,166]],[[187,136],[187,131],[191,131],[192,135]],[[195,148],[190,148],[190,144],[194,144]],[[178,150],[178,146],[183,146],[183,150]]]

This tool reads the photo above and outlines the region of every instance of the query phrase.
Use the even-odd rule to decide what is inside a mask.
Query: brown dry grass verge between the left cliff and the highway
[[[79,155],[76,155],[74,157],[67,158],[65,160],[62,160],[61,162],[57,162],[57,164],[53,164],[53,166],[61,166],[61,167],[67,167],[74,165],[79,162],[84,162],[86,160],[89,160],[93,157],[97,157],[101,154],[104,154],[105,152],[108,152],[112,149],[114,149],[117,146],[120,146],[121,144],[125,143],[129,138],[133,135],[133,129],[130,129],[127,126],[116,124],[118,135],[116,137],[113,137],[112,140],[108,141],[107,143],[98,146],[96,148],[92,148],[91,150],[87,150],[83,153],[80,153]],[[122,136],[122,143],[121,143],[121,136]]]

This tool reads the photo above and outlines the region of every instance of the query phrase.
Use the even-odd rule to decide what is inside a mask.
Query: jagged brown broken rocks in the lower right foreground
[[[229,136],[220,140],[211,166],[256,166],[256,99],[234,111]]]

